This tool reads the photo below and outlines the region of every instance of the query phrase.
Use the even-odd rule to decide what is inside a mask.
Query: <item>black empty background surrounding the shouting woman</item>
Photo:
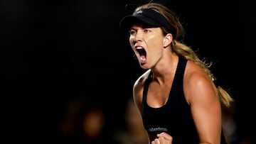
[[[143,70],[119,21],[144,2],[1,0],[3,138],[58,139],[58,125],[73,99],[103,106],[110,132],[122,127],[125,103]],[[185,42],[215,62],[218,82],[235,98],[240,137],[253,138],[255,4],[161,2],[181,17]]]

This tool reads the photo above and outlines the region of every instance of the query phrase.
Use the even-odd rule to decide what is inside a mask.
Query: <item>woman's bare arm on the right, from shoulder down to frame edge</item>
[[[207,74],[191,74],[184,82],[184,92],[200,141],[220,143],[221,106],[211,79]]]

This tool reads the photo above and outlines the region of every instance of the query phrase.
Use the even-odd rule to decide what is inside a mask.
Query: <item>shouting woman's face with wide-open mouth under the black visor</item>
[[[163,54],[164,35],[161,28],[135,23],[129,31],[129,43],[143,69],[154,67]]]

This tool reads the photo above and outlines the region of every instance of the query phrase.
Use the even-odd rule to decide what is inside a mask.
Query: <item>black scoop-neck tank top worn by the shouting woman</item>
[[[173,137],[173,144],[198,144],[199,138],[196,126],[193,123],[191,109],[183,94],[183,74],[186,67],[186,59],[179,57],[174,82],[171,86],[169,98],[164,106],[152,108],[146,104],[146,95],[149,83],[152,81],[152,73],[149,74],[142,98],[142,119],[144,128],[152,135],[166,132]],[[221,143],[225,143],[221,133]]]

